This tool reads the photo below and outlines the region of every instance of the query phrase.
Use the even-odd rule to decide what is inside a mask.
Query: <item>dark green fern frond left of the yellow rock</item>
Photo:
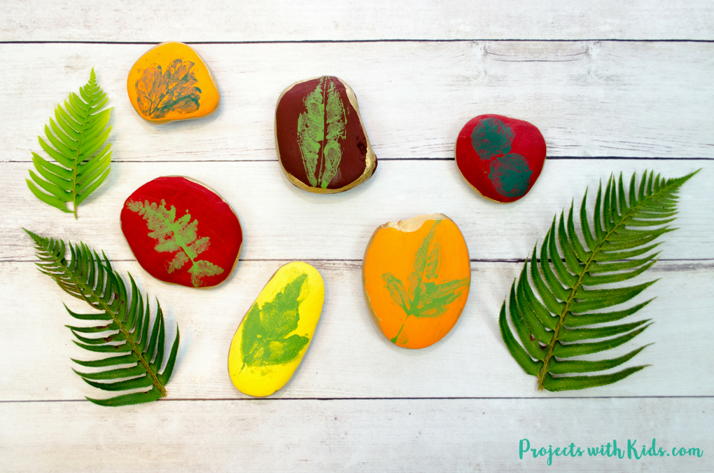
[[[37,263],[40,272],[54,279],[68,294],[101,311],[94,314],[76,314],[65,306],[75,319],[99,321],[96,327],[67,325],[79,340],[74,343],[90,352],[110,354],[109,357],[86,362],[73,359],[82,367],[108,368],[89,373],[75,370],[76,374],[90,386],[105,391],[143,389],[142,392],[120,394],[109,399],[87,399],[101,406],[124,406],[156,401],[166,396],[165,386],[174,371],[178,353],[178,327],[166,367],[163,372],[159,372],[164,362],[165,338],[164,314],[159,302],[156,302],[156,317],[149,331],[151,308],[148,294],[145,308],[144,298],[136,287],[134,278],[129,275],[129,294],[119,273],[111,269],[106,254],[102,253],[100,257],[84,243],[67,245],[61,239],[47,239],[31,231],[27,233],[35,242],[37,257],[41,260]],[[69,261],[65,259],[67,247],[71,253]],[[86,334],[99,334],[99,337],[86,337]],[[146,388],[150,389],[147,391]]]

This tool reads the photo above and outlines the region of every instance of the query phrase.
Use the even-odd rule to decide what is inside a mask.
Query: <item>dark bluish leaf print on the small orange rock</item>
[[[201,89],[195,86],[193,62],[175,59],[162,73],[159,64],[151,64],[136,81],[136,101],[142,113],[160,119],[170,111],[190,114],[198,110]]]

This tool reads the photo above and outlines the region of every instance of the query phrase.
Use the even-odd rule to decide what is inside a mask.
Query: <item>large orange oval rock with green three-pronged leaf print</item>
[[[378,227],[364,252],[362,284],[374,321],[393,344],[438,342],[456,324],[471,285],[461,231],[443,214]]]

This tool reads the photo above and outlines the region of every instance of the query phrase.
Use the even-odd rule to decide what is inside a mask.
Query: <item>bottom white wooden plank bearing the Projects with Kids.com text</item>
[[[0,404],[4,472],[710,472],[708,399],[400,399]],[[686,422],[682,422],[686,419]],[[49,441],[48,439],[51,439]],[[535,449],[581,457],[519,459]],[[617,442],[623,459],[589,457]],[[628,458],[655,442],[663,457]],[[524,442],[525,443],[525,442]],[[702,457],[666,457],[674,447]],[[631,453],[631,452],[630,452]],[[695,453],[695,452],[693,452]]]

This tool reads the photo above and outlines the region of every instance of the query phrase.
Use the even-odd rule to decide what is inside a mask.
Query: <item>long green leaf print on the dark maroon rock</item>
[[[298,146],[308,181],[326,189],[337,175],[346,137],[346,114],[335,81],[322,76],[306,96],[305,111],[298,117]]]

